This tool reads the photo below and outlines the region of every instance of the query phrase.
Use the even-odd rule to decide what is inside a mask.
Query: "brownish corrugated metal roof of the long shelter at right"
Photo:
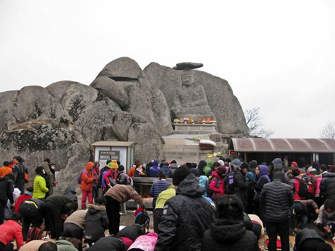
[[[335,139],[230,138],[229,147],[237,152],[335,153]]]

